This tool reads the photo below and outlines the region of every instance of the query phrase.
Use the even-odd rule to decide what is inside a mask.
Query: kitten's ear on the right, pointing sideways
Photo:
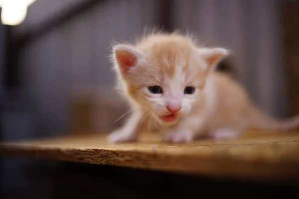
[[[229,55],[229,50],[224,48],[205,48],[199,49],[200,56],[204,59],[208,69],[215,68],[217,64]]]

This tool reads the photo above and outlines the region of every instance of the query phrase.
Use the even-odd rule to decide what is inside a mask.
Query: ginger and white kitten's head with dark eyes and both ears
[[[113,48],[128,97],[164,123],[192,114],[192,107],[204,98],[206,78],[226,55],[223,48],[200,48],[178,34],[150,35],[136,45]]]

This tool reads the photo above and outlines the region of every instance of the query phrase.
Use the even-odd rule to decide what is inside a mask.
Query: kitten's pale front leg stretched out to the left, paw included
[[[141,131],[141,122],[143,114],[140,112],[133,112],[129,120],[120,129],[115,130],[108,135],[108,141],[112,143],[117,142],[135,142],[138,140],[139,132]]]

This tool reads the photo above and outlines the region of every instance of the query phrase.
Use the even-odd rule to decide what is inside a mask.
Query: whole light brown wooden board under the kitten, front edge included
[[[299,132],[247,132],[230,141],[166,144],[158,136],[110,144],[105,134],[0,144],[0,155],[107,164],[203,176],[299,179]]]

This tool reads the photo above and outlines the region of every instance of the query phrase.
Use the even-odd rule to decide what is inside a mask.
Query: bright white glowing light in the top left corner
[[[18,25],[27,14],[27,7],[35,0],[0,0],[1,22],[4,25]]]

